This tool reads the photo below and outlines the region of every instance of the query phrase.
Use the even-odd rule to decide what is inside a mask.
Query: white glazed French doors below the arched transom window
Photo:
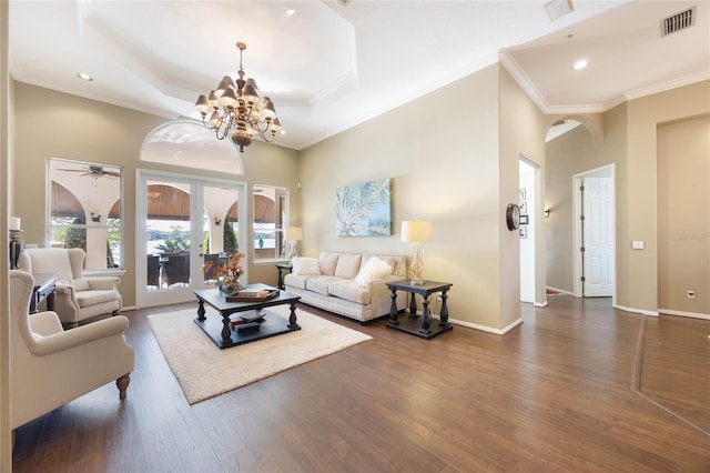
[[[194,300],[214,283],[212,265],[246,244],[245,184],[192,175],[136,171],[136,305]],[[244,281],[246,274],[243,275]]]

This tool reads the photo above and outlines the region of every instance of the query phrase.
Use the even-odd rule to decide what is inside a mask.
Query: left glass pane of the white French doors
[[[148,290],[190,285],[190,184],[148,181]]]

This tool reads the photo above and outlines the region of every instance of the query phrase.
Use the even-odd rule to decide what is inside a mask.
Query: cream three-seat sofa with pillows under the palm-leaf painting
[[[392,291],[386,282],[407,275],[402,255],[323,251],[318,258],[294,258],[285,290],[301,302],[355,319],[359,323],[389,315]],[[405,298],[397,298],[397,310]]]

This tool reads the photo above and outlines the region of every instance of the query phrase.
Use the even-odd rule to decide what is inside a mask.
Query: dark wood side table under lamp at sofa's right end
[[[420,339],[429,340],[444,332],[453,330],[454,326],[448,323],[448,308],[446,306],[446,294],[452,288],[448,282],[425,281],[423,284],[413,284],[409,280],[388,282],[387,288],[392,291],[392,308],[389,310],[389,321],[387,329],[406,332]],[[405,319],[397,320],[397,291],[404,291],[412,294],[409,301],[409,314]],[[442,313],[438,326],[432,328],[432,314],[429,313],[429,295],[442,293]],[[417,315],[417,301],[415,295],[422,295],[422,322]]]

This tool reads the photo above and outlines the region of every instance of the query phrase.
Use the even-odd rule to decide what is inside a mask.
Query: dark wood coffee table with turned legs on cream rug
[[[274,290],[274,288],[266,284],[248,284],[246,290],[261,291]],[[221,293],[219,289],[195,291],[195,295],[200,304],[197,306],[195,323],[220,349],[229,349],[231,346],[301,330],[301,326],[296,323],[296,302],[298,302],[301,296],[286,291],[278,291],[278,295],[273,299],[248,302],[227,302],[225,295]],[[205,303],[214,308],[220,315],[222,315],[221,321],[216,318],[205,316]],[[284,304],[291,305],[291,316],[288,320],[266,310],[266,308]],[[245,316],[254,316],[257,312],[264,315],[258,321],[232,325],[231,315],[240,313]]]

